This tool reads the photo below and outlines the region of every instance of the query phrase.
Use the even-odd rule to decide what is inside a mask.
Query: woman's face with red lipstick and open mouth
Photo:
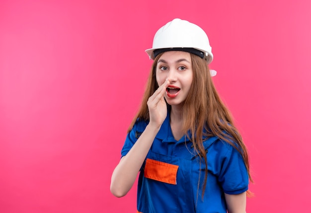
[[[156,65],[156,82],[162,85],[166,78],[170,84],[166,88],[165,100],[171,106],[182,105],[193,78],[190,53],[168,51],[161,55]]]

